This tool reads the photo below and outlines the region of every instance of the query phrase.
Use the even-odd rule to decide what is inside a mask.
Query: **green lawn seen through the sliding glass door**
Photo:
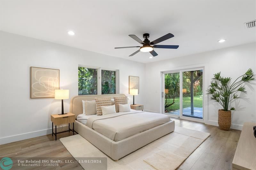
[[[172,103],[173,99],[167,99],[167,102]],[[180,97],[174,99],[174,104],[165,109],[168,111],[180,109]],[[183,97],[183,108],[190,107],[190,97]],[[194,107],[203,107],[203,98],[200,99],[200,96],[194,96]]]

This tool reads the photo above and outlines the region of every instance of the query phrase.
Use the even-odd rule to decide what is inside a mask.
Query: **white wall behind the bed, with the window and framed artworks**
[[[118,69],[120,93],[128,94],[128,76],[140,77],[137,103],[144,104],[145,64],[85,51],[12,33],[1,32],[0,144],[51,133],[50,115],[61,112],[61,101],[30,99],[30,67],[60,69],[60,88],[78,95],[78,64]],[[64,111],[69,111],[64,100]]]

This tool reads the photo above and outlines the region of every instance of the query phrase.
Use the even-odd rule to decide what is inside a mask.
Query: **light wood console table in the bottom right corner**
[[[233,168],[256,170],[256,138],[253,135],[253,126],[256,123],[244,123],[232,162]]]

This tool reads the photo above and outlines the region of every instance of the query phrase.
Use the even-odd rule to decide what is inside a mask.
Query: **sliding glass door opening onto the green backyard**
[[[164,113],[203,119],[203,69],[164,72],[163,79]]]

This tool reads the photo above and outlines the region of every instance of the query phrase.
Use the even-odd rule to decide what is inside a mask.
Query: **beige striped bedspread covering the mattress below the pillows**
[[[86,126],[117,142],[167,122],[170,116],[135,110],[90,117]]]

